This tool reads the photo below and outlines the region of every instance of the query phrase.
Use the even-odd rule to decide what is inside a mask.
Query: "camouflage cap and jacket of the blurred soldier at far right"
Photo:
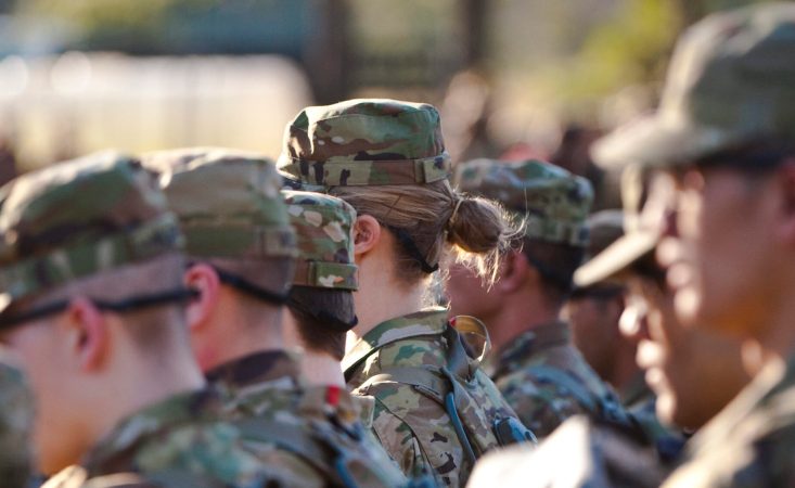
[[[676,168],[768,138],[792,147],[794,52],[795,5],[790,3],[703,20],[679,40],[657,113],[599,141],[597,162]],[[766,162],[729,155],[721,163],[764,171]],[[795,486],[794,394],[791,354],[769,362],[702,427],[663,486]]]

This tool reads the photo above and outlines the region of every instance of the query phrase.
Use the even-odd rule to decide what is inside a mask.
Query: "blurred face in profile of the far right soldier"
[[[679,318],[753,335],[775,294],[771,198],[765,182],[731,169],[667,176],[672,210],[658,248]]]

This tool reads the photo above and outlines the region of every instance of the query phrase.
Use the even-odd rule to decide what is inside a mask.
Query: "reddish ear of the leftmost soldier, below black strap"
[[[82,371],[98,371],[111,348],[107,321],[86,297],[75,297],[65,312],[67,347]]]

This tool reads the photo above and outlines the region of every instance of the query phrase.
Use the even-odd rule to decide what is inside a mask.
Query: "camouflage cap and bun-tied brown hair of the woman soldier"
[[[395,234],[405,283],[435,271],[447,245],[493,271],[511,230],[497,206],[450,188],[433,106],[374,99],[308,107],[287,126],[284,146],[280,169]]]

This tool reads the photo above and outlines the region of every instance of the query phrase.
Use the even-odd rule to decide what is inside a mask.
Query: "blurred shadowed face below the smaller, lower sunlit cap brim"
[[[672,296],[650,280],[632,278],[621,331],[639,339],[638,365],[657,395],[657,414],[680,427],[698,428],[747,383],[740,342],[684,328]]]

